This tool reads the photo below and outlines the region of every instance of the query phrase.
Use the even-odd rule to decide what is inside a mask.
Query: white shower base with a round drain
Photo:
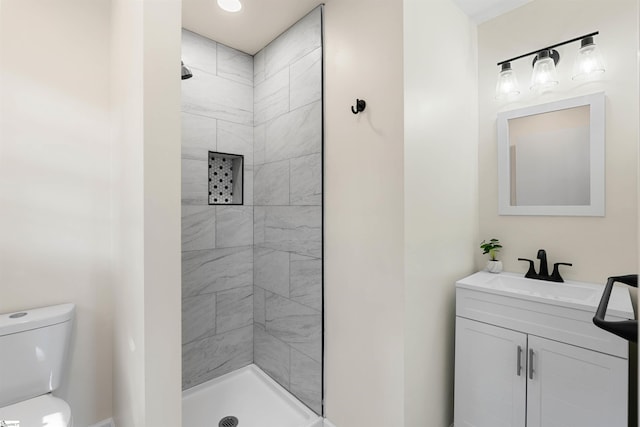
[[[321,417],[256,365],[245,366],[182,393],[182,427],[218,427],[226,417],[236,417],[238,427],[323,425]]]

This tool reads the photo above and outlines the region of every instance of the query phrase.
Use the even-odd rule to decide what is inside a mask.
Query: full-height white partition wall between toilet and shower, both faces
[[[114,419],[180,425],[180,3],[114,1]]]

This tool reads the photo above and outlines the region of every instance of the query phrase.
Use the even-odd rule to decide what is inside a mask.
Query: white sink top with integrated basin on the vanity
[[[456,286],[483,292],[490,292],[514,298],[545,302],[553,305],[582,309],[595,313],[604,285],[584,282],[547,282],[525,279],[520,274],[493,274],[480,271],[465,277]],[[633,318],[633,307],[629,291],[624,287],[614,287],[607,313],[627,319]],[[630,317],[629,317],[630,316]]]

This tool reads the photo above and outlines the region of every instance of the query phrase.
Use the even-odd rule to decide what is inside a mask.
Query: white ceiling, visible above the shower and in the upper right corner
[[[220,9],[216,0],[182,0],[182,26],[253,55],[319,4],[348,0],[241,1],[242,10],[230,13]],[[530,1],[453,0],[478,24]]]

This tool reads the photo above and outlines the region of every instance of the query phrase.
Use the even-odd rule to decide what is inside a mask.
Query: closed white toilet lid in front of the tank
[[[45,394],[0,408],[0,421],[20,421],[20,427],[70,427],[71,409],[64,400]]]

